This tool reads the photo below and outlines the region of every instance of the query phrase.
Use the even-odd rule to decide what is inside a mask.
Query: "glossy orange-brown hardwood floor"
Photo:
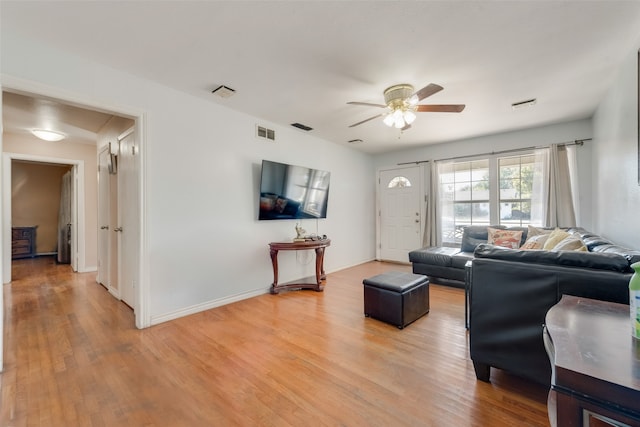
[[[95,282],[48,258],[4,286],[1,426],[548,426],[547,390],[476,381],[464,291],[430,286],[404,330],[363,316],[370,262],[325,291],[249,300],[145,330]],[[266,278],[265,280],[268,280]]]

